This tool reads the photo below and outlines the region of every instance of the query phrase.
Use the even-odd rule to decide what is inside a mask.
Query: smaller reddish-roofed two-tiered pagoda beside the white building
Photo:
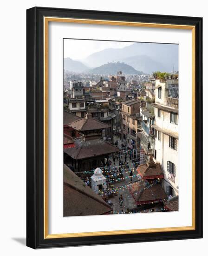
[[[150,155],[146,164],[137,167],[137,172],[141,176],[141,180],[129,186],[137,206],[165,202],[167,195],[161,183],[164,174],[160,163],[155,163]]]

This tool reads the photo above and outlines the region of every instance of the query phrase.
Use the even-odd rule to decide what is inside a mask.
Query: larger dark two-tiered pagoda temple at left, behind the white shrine
[[[80,135],[74,140],[74,148],[64,149],[64,162],[72,166],[75,172],[97,168],[104,163],[104,158],[108,159],[110,154],[119,151],[101,138],[102,130],[109,128],[109,125],[92,118],[91,113],[68,126]]]

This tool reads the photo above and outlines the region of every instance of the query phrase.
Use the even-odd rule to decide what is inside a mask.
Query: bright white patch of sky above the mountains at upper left
[[[64,58],[70,57],[72,60],[80,60],[106,48],[123,48],[132,44],[128,42],[65,39]]]

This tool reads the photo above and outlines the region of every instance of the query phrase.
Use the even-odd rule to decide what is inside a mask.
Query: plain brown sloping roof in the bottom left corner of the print
[[[64,216],[109,213],[111,207],[64,164]]]

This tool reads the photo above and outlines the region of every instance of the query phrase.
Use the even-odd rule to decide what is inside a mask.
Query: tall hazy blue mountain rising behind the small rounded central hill
[[[159,43],[134,43],[123,48],[107,48],[80,60],[89,67],[101,66],[111,61],[123,61],[135,69],[151,74],[160,70],[178,70],[178,45]]]

